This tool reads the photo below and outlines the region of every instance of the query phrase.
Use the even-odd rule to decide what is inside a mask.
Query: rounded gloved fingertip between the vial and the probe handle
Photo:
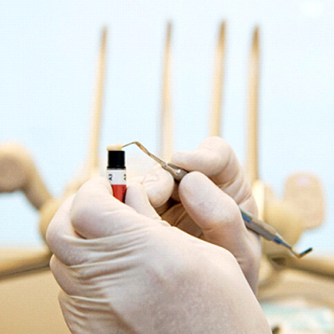
[[[154,208],[166,204],[174,189],[174,179],[170,173],[157,166],[150,171],[142,182],[148,199]]]

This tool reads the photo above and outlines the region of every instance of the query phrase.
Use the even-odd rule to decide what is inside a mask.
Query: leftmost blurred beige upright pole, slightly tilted
[[[88,177],[99,168],[99,134],[101,129],[101,110],[104,93],[104,77],[106,72],[106,41],[107,28],[102,30],[101,45],[97,63],[97,83],[95,90],[95,101],[92,110],[92,123],[88,143]]]

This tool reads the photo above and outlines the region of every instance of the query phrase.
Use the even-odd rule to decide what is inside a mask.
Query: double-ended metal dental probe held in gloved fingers
[[[188,172],[182,168],[179,168],[173,164],[170,164],[169,162],[166,162],[159,157],[153,155],[153,153],[150,153],[143,145],[139,143],[139,141],[131,141],[128,144],[125,144],[122,146],[122,148],[135,144],[137,145],[146,155],[157,161],[157,163],[164,168],[164,170],[167,170],[175,179],[175,181],[181,181],[181,179],[188,174]],[[279,233],[276,232],[275,228],[272,226],[266,224],[265,222],[262,222],[262,220],[258,219],[257,217],[253,216],[251,213],[248,213],[248,211],[244,210],[239,206],[239,210],[242,214],[242,219],[244,219],[245,225],[250,230],[253,230],[253,232],[262,235],[264,239],[267,239],[269,241],[275,242],[276,244],[282,245],[295,255],[295,257],[301,258],[304,257],[304,255],[311,252],[312,248],[308,248],[304,250],[302,253],[298,253],[293,249],[293,246],[288,244],[286,240],[282,237],[282,235],[279,235]]]

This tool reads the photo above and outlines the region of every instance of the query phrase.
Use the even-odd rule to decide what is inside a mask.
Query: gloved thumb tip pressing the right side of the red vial
[[[148,201],[148,196],[145,193],[144,186],[142,184],[130,184],[126,189],[125,203],[134,208],[137,213],[146,217],[157,219],[161,221],[161,217],[157,214],[157,211],[151,206]],[[161,224],[167,224],[161,221]],[[169,226],[169,224],[167,224]]]

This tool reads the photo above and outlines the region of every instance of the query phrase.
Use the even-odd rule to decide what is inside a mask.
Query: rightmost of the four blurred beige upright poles
[[[258,168],[258,95],[259,95],[259,28],[253,32],[248,63],[248,136],[246,144],[246,175],[250,184],[259,179]]]

